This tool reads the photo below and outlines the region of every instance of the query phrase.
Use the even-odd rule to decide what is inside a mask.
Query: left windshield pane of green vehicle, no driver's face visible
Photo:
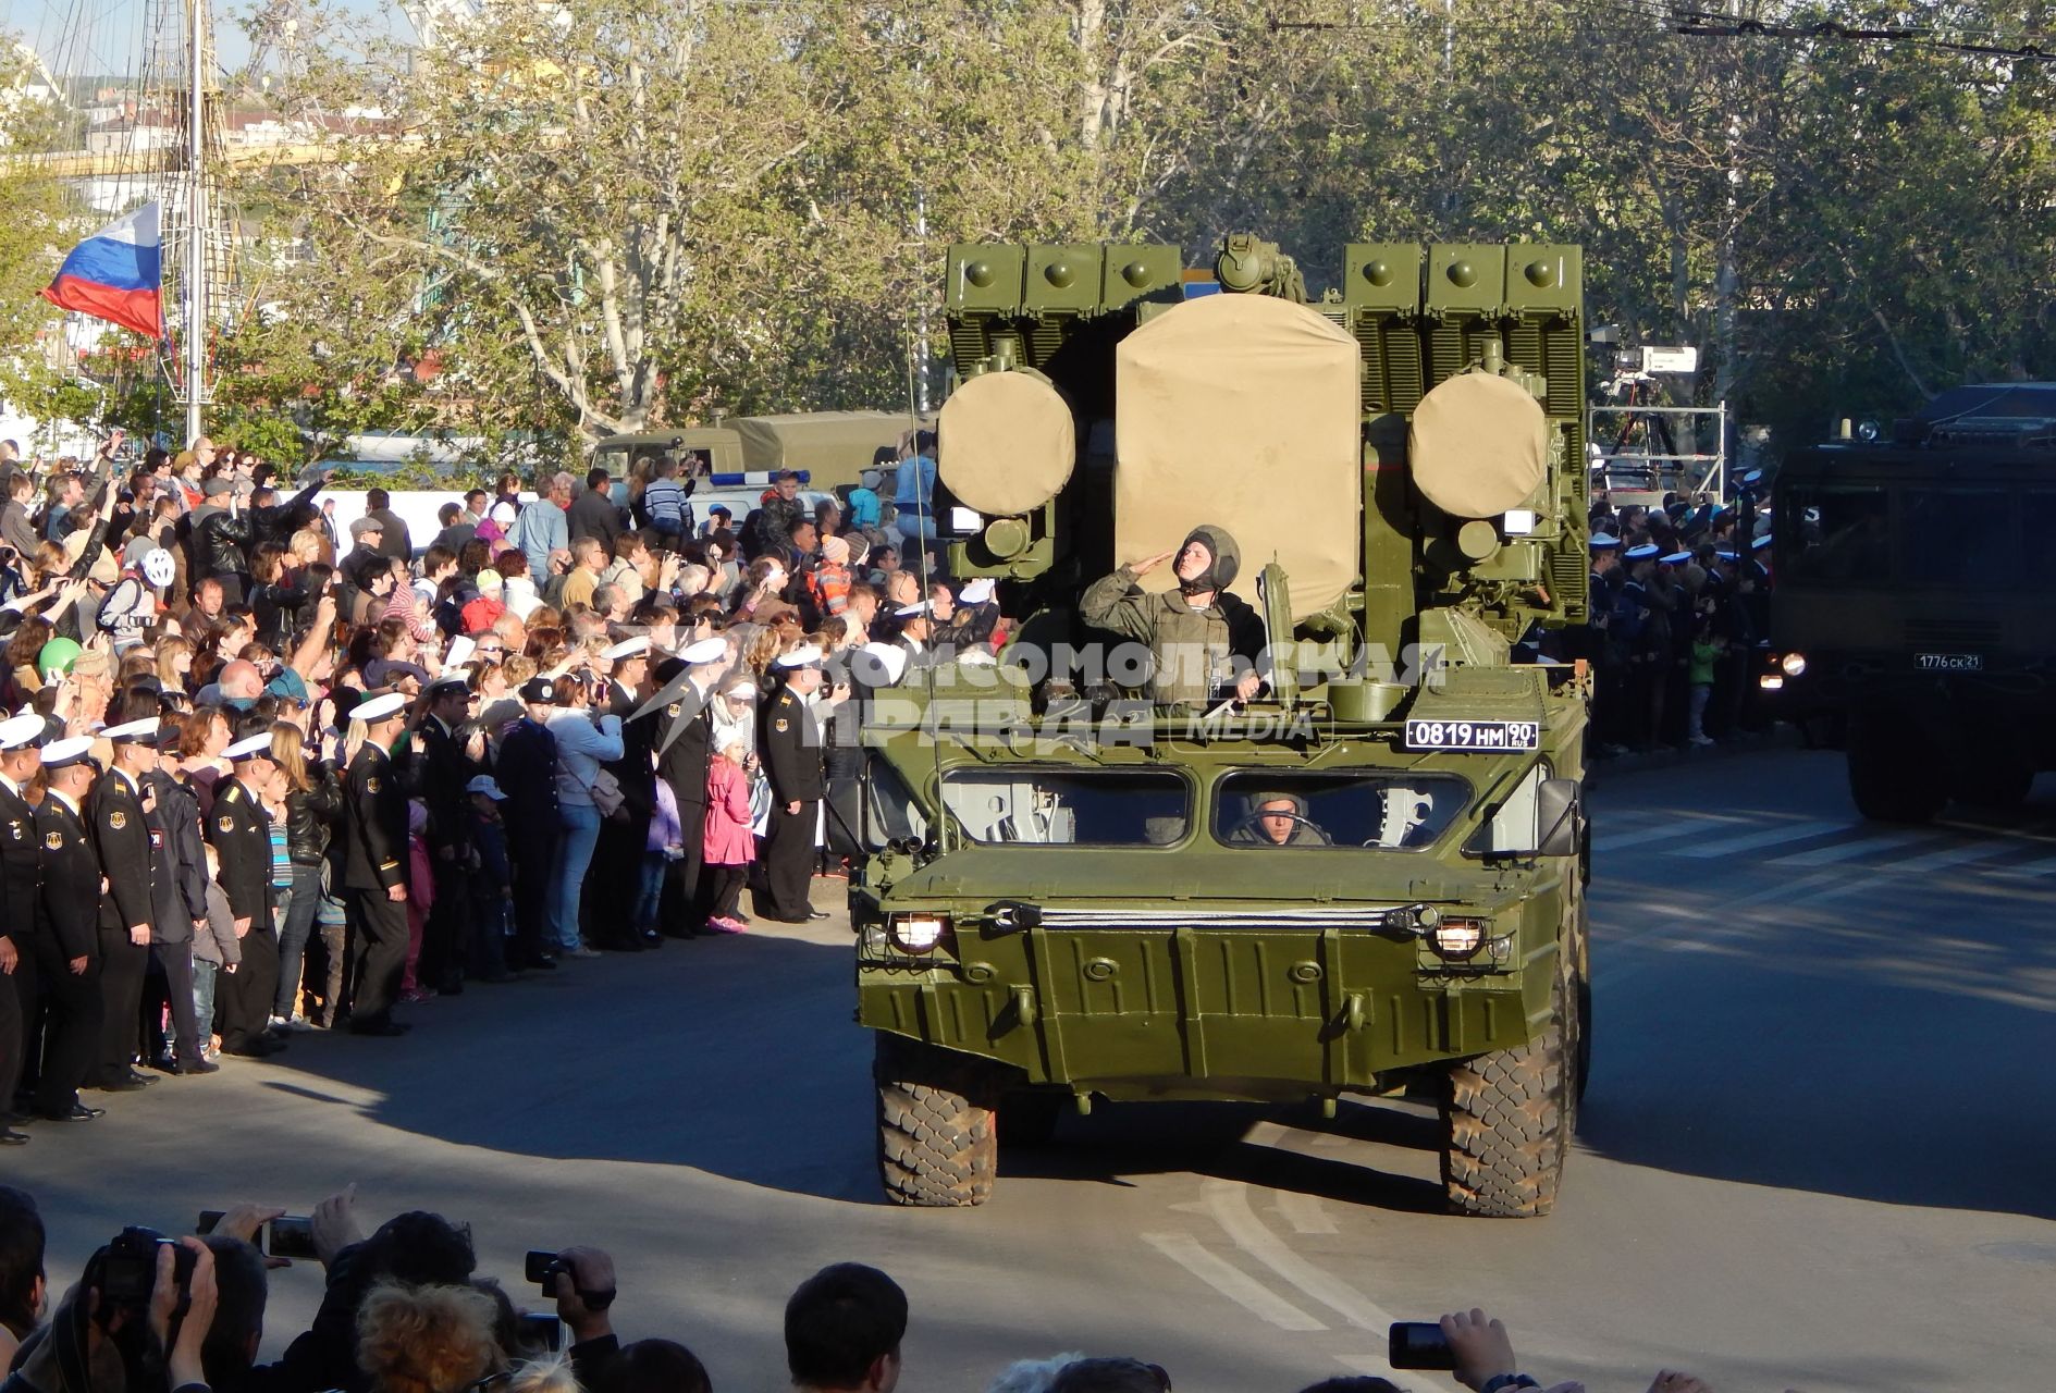
[[[1184,838],[1192,793],[1164,770],[952,768],[942,803],[975,842],[1168,846]]]

